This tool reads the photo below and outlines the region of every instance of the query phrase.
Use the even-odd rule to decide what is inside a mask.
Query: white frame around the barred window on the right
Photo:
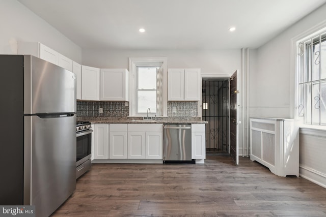
[[[322,130],[326,130],[326,126],[321,126],[321,125],[310,125],[310,124],[305,124],[304,123],[304,117],[303,116],[299,116],[299,102],[298,102],[298,97],[299,97],[299,93],[298,93],[298,66],[297,66],[297,47],[299,42],[304,41],[306,39],[311,38],[313,35],[325,32],[326,29],[326,21],[323,21],[313,27],[311,27],[310,29],[306,30],[304,33],[297,35],[296,37],[291,39],[291,59],[290,59],[290,67],[291,67],[291,76],[290,79],[294,82],[290,83],[291,86],[291,90],[294,90],[292,92],[292,94],[290,94],[291,96],[293,96],[293,109],[292,111],[294,112],[293,115],[295,120],[298,121],[300,127],[303,128],[312,128],[312,129],[322,129]],[[293,79],[292,79],[293,78]]]

